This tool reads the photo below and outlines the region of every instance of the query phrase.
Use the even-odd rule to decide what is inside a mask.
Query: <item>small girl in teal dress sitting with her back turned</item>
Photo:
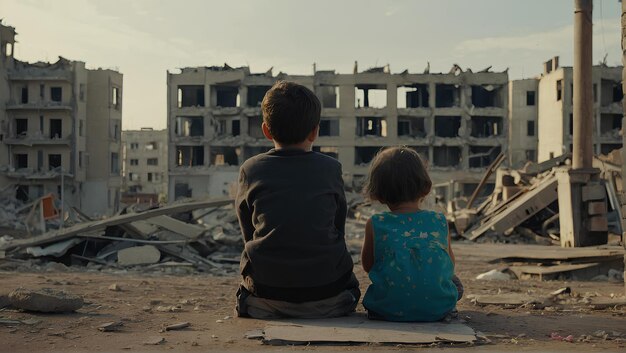
[[[365,193],[390,212],[373,215],[365,225],[361,263],[372,284],[363,306],[370,318],[437,321],[461,297],[446,218],[420,208],[431,186],[410,148],[388,148],[372,160]]]

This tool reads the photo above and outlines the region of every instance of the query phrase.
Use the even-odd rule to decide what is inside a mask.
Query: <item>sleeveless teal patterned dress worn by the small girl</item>
[[[457,289],[446,218],[433,211],[372,216],[374,265],[363,306],[389,321],[437,321],[454,309]]]

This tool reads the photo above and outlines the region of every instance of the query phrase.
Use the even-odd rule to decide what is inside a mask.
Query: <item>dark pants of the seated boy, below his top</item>
[[[353,312],[360,298],[359,282],[354,274],[346,285],[346,289],[336,296],[302,303],[260,298],[240,285],[237,290],[235,314],[239,317],[253,317],[255,319],[338,317]]]

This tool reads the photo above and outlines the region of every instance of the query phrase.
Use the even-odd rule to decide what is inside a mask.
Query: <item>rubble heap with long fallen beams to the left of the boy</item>
[[[3,266],[29,262],[48,268],[191,269],[212,274],[236,270],[243,246],[232,199],[186,201],[144,211],[125,209],[41,235],[0,238]],[[64,266],[65,265],[65,266]]]

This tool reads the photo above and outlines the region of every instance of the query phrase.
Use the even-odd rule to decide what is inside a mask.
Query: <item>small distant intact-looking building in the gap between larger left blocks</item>
[[[122,131],[124,203],[167,200],[167,130]]]

